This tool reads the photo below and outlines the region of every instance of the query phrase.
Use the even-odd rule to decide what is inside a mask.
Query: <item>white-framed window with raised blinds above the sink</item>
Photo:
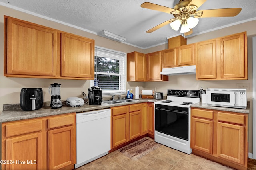
[[[125,94],[126,53],[95,47],[94,80],[90,86],[99,86],[103,95]]]

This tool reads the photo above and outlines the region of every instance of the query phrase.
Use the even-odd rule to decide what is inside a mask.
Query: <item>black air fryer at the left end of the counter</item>
[[[20,91],[20,107],[24,111],[38,110],[43,106],[42,88],[22,88]]]

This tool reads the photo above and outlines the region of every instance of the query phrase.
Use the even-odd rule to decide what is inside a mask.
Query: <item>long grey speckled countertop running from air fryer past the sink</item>
[[[143,102],[155,102],[158,99],[140,99],[134,100],[134,102],[126,102],[126,103],[118,103],[118,104],[104,104],[101,105],[89,105],[84,104],[81,107],[70,107],[70,106],[62,106],[60,109],[52,109],[50,106],[44,106],[39,110],[35,111],[23,111],[20,107],[17,109],[4,109],[0,114],[0,122],[7,122],[7,121],[16,121],[22,119],[31,119],[36,117],[45,117],[51,115],[60,115],[65,113],[72,113],[72,112],[82,112],[82,111],[92,111],[98,109],[106,109],[115,106],[123,106],[128,104],[136,104],[136,103],[143,103]],[[14,104],[15,105],[15,104]],[[17,105],[17,104],[16,104]],[[19,104],[18,104],[19,106]]]

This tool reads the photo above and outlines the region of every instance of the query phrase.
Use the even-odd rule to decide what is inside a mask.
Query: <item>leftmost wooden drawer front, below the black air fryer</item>
[[[32,133],[42,130],[42,120],[23,121],[17,123],[8,123],[6,125],[6,137]]]

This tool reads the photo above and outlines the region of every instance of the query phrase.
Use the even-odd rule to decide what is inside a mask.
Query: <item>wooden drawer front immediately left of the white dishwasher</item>
[[[48,128],[72,125],[75,123],[75,113],[72,115],[62,115],[48,119]]]

